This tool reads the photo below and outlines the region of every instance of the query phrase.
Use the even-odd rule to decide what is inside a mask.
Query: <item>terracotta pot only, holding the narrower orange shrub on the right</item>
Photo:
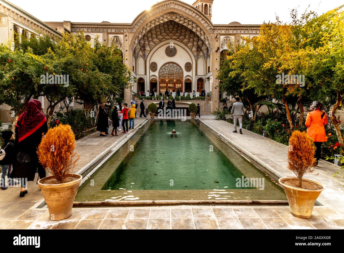
[[[325,186],[322,183],[309,180],[309,179],[302,179],[302,182],[308,181],[318,184],[322,187],[319,190],[307,190],[301,188],[295,188],[292,186],[285,185],[283,182],[288,179],[297,179],[296,177],[283,177],[280,178],[278,181],[282,185],[284,191],[287,194],[288,202],[289,202],[289,209],[292,215],[309,219],[312,216],[312,211],[314,207],[314,203],[320,193],[325,189]],[[298,179],[297,179],[298,180]]]

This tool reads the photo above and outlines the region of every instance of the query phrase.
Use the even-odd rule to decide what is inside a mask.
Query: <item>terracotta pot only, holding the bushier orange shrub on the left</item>
[[[38,186],[41,189],[52,220],[63,220],[72,215],[73,202],[83,177],[77,174],[68,175],[75,177],[75,180],[57,185],[48,185],[44,181],[54,177],[49,176],[38,181]]]

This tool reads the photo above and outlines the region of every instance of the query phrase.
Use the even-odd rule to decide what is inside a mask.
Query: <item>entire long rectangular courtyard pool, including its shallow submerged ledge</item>
[[[171,135],[175,129],[177,134]],[[237,185],[260,178],[264,190]],[[148,120],[79,188],[75,201],[287,200],[276,182],[196,120]]]

